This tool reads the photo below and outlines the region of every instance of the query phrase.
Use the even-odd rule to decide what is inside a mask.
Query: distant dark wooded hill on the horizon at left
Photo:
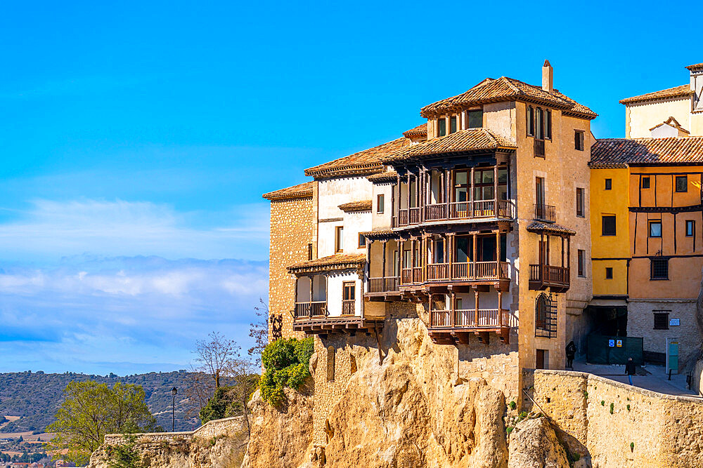
[[[45,374],[42,372],[0,373],[0,416],[20,416],[0,428],[0,432],[43,431],[54,420],[63,401],[63,389],[72,380],[96,380],[110,387],[115,382],[141,385],[146,403],[159,425],[171,430],[171,389],[176,387],[176,431],[189,431],[200,425],[197,402],[186,399],[190,373],[185,370],[169,373],[135,374],[120,377],[114,374],[85,375],[76,373]],[[188,417],[188,410],[195,417]],[[0,436],[1,438],[1,436]]]

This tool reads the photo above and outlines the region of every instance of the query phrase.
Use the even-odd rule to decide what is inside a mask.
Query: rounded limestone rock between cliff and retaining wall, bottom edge
[[[522,420],[510,433],[508,468],[568,468],[566,450],[546,417]]]

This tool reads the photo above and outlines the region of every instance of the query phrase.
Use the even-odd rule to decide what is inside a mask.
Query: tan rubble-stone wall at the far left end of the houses
[[[314,195],[305,199],[271,201],[269,340],[280,336],[304,337],[302,333],[293,332],[291,311],[295,307],[295,276],[288,273],[288,267],[308,260],[309,243],[313,244],[313,258],[316,258],[315,199]]]

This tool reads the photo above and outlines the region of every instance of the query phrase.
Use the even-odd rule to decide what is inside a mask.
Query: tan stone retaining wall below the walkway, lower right
[[[593,466],[701,466],[700,399],[566,370],[525,371],[524,382],[538,405],[529,409],[543,410],[569,450],[591,457]]]

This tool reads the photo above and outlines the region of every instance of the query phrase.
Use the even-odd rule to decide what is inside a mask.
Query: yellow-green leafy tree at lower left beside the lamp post
[[[56,421],[46,428],[58,435],[48,446],[67,449],[65,459],[87,464],[89,457],[105,440],[105,434],[157,432],[162,429],[149,412],[144,390],[138,385],[117,382],[112,389],[92,380],[70,382]]]

